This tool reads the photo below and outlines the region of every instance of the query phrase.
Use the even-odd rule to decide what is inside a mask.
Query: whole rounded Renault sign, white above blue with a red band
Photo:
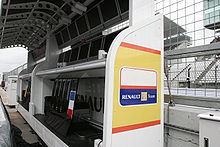
[[[121,106],[157,103],[157,73],[153,70],[123,67],[120,70]]]

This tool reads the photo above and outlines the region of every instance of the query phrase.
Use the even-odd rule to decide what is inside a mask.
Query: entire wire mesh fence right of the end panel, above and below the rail
[[[181,49],[184,54],[186,48],[199,50],[220,42],[220,0],[155,0],[155,3],[156,12],[168,20],[165,18],[165,51]],[[165,59],[165,93],[169,93],[169,84],[174,95],[220,97],[219,59],[215,53]]]

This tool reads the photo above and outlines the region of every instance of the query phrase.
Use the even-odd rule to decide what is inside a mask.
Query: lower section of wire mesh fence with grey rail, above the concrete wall
[[[198,46],[193,53],[190,49],[166,52],[165,94],[220,97],[220,44],[215,45],[215,51],[208,45],[205,51]]]

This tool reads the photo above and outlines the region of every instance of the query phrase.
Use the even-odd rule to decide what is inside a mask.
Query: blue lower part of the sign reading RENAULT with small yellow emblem
[[[122,106],[156,103],[157,89],[120,89],[120,104]]]

